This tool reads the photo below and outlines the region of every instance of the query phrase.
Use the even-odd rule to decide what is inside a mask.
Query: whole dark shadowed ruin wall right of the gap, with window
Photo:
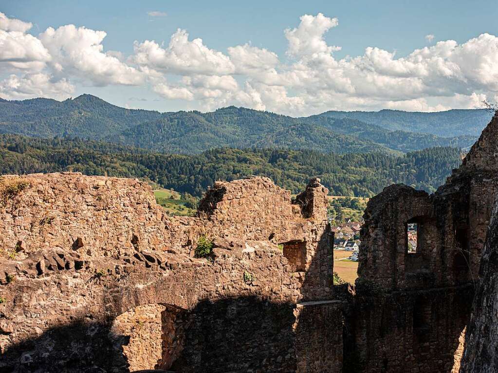
[[[361,371],[459,371],[498,190],[497,146],[495,117],[436,193],[391,186],[369,201],[355,296]],[[407,251],[412,222],[417,254]]]

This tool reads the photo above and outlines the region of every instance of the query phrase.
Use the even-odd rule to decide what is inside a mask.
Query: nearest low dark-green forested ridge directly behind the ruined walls
[[[198,196],[216,180],[249,175],[267,176],[294,193],[303,190],[314,176],[335,195],[372,196],[392,183],[433,191],[460,163],[458,149],[442,147],[398,157],[229,148],[187,156],[99,141],[0,135],[0,174],[80,171],[137,177]]]

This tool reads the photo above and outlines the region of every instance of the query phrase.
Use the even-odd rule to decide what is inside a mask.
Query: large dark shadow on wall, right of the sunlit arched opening
[[[257,297],[201,301],[184,319],[176,372],[295,372],[291,303]]]

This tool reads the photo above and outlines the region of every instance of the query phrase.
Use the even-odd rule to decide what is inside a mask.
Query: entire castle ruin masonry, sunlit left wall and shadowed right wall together
[[[136,180],[4,176],[25,187],[0,206],[0,371],[495,372],[497,157],[495,117],[436,193],[372,198],[355,287],[317,179],[217,182],[172,218]]]

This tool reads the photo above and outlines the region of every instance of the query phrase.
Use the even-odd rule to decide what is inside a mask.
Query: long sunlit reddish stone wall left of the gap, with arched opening
[[[198,217],[176,219],[135,180],[4,179],[27,187],[0,209],[3,370],[290,372],[296,304],[332,297],[328,191],[317,180],[312,208],[249,178],[217,183]],[[203,235],[213,255],[195,258]],[[290,241],[301,242],[300,268],[278,246]]]

